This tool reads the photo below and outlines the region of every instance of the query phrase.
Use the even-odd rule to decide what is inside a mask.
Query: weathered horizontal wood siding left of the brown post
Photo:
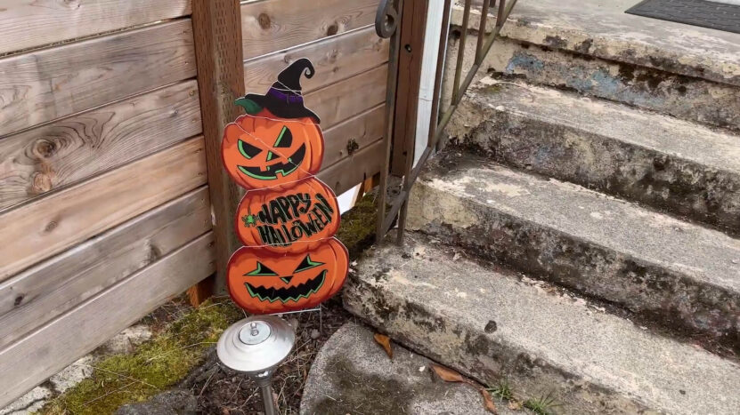
[[[190,14],[0,5],[0,408],[214,271]]]

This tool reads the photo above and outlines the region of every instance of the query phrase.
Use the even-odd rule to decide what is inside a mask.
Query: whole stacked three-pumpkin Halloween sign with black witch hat
[[[321,168],[321,120],[305,108],[300,76],[311,61],[285,68],[264,95],[237,100],[247,114],[224,130],[224,167],[247,194],[235,227],[244,247],[229,260],[234,302],[253,314],[315,307],[345,282],[346,247],[337,196],[314,175]]]

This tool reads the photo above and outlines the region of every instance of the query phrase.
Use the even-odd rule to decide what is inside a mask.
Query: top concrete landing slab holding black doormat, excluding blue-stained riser
[[[740,35],[624,13],[639,0],[519,0],[502,35],[740,85]],[[461,8],[453,12],[459,25]],[[470,28],[478,28],[474,13]]]

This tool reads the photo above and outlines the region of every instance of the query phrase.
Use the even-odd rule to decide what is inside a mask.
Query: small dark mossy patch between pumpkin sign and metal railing
[[[377,219],[378,210],[373,193],[362,197],[351,210],[342,215],[342,224],[339,226],[337,239],[345,244],[351,259],[356,259],[365,248],[374,242]]]

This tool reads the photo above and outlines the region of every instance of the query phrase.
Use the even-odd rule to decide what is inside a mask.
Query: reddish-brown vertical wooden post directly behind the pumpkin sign
[[[192,0],[192,28],[214,221],[214,288],[223,293],[226,263],[240,246],[233,221],[241,192],[221,164],[224,126],[242,113],[234,100],[245,93],[239,0]]]

